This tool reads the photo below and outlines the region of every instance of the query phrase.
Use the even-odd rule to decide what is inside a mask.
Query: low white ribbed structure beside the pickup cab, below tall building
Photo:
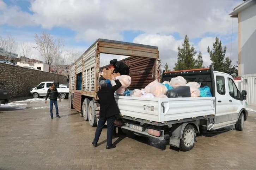
[[[248,105],[256,106],[256,74],[246,74],[241,76],[242,90],[247,91]]]

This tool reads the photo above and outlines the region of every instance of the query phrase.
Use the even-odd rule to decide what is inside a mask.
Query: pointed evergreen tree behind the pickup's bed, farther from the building
[[[182,46],[182,48],[178,47],[178,59],[173,70],[191,70],[202,67],[202,54],[199,56],[201,58],[194,58],[196,55],[195,47],[193,45],[190,46],[188,35],[185,35]]]

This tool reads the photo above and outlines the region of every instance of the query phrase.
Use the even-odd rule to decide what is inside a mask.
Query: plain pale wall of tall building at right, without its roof
[[[239,18],[240,17],[240,18]],[[240,21],[240,74],[254,74],[255,69],[255,44],[256,44],[256,4],[244,9],[238,14],[238,30]],[[238,31],[239,32],[239,31]],[[239,53],[239,51],[238,51]],[[239,57],[239,56],[238,56]]]

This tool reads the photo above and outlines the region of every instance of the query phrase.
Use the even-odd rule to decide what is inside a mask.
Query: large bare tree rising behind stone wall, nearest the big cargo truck
[[[35,49],[41,53],[46,64],[51,66],[61,60],[64,42],[60,38],[54,39],[49,33],[43,31],[40,36],[35,34],[35,41],[37,44]]]

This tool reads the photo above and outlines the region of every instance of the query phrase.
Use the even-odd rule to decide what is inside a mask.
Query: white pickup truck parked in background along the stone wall
[[[38,84],[36,87],[30,90],[30,95],[33,96],[33,98],[38,97],[45,97],[47,94],[47,90],[49,89],[51,83],[53,81],[44,81]],[[58,90],[58,93],[60,95],[61,99],[66,99],[68,97],[69,88],[67,85],[59,85],[59,83],[54,83],[55,87]]]

